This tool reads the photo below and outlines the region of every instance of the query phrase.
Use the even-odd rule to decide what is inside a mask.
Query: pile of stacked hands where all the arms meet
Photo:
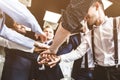
[[[38,64],[45,64],[52,68],[60,61],[60,56],[57,56],[55,53],[50,51],[49,47],[50,46],[36,41],[34,52],[40,53]]]

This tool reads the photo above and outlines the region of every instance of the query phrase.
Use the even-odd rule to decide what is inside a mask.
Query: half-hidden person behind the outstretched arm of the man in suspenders
[[[84,40],[84,36],[87,32],[89,32],[87,25],[85,25],[85,21],[82,22],[84,26],[79,35],[79,44]],[[77,47],[78,46],[79,45],[77,45]],[[71,77],[75,80],[93,80],[94,67],[93,54],[91,49],[89,49],[82,58],[74,61]]]

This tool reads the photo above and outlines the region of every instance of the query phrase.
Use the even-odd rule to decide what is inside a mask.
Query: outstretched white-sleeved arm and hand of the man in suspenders
[[[41,57],[43,57],[44,59],[39,61],[38,64],[44,64],[47,63],[51,68],[53,66],[55,66],[57,63],[59,63],[60,61],[63,62],[71,62],[74,60],[77,60],[79,58],[81,58],[83,55],[85,55],[85,53],[87,52],[87,50],[90,48],[89,43],[84,40],[78,47],[77,49],[66,53],[66,54],[62,54],[62,55],[55,55],[55,54],[48,54],[48,53],[44,53],[41,55]],[[48,59],[49,61],[46,62],[46,59]]]

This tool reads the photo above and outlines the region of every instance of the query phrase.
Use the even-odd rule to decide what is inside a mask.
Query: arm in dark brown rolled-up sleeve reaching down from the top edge
[[[89,7],[95,1],[101,0],[70,0],[66,10],[62,10],[62,18],[53,43],[45,53],[56,53],[60,45],[71,33],[80,32],[82,27],[81,21],[87,14]]]

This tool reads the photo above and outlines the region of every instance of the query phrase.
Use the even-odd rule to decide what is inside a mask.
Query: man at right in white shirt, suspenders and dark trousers
[[[82,57],[85,52],[91,48],[94,48],[95,62],[97,67],[95,68],[94,78],[95,80],[120,80],[120,54],[118,54],[118,63],[114,58],[115,48],[114,37],[113,37],[113,18],[105,16],[104,8],[101,2],[94,2],[88,9],[85,17],[87,24],[93,27],[94,31],[94,47],[91,43],[91,31],[84,37],[82,43],[78,48],[68,54],[58,56],[55,61],[48,64],[53,65],[58,61],[73,61]],[[120,17],[116,17],[116,28],[118,38],[118,53],[120,52],[119,41],[120,41]],[[55,57],[54,57],[55,58]],[[53,59],[52,59],[53,60]],[[55,64],[54,64],[55,65]],[[52,66],[51,66],[52,67]]]

